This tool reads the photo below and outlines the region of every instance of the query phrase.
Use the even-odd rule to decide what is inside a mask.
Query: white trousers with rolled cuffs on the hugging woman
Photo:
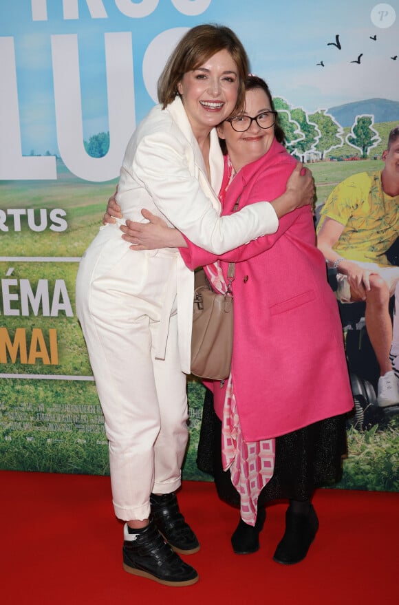
[[[76,309],[105,416],[115,513],[142,520],[151,491],[180,487],[188,439],[176,255],[133,252],[120,231],[117,237],[100,231],[89,246],[78,270]],[[155,359],[160,339],[164,359]]]

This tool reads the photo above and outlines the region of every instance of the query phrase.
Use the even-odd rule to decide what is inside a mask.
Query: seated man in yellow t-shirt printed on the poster
[[[399,404],[399,318],[392,328],[389,316],[395,291],[399,300],[399,267],[386,256],[399,234],[399,126],[389,133],[382,160],[382,171],[355,174],[332,191],[317,245],[338,269],[338,299],[366,303],[367,333],[380,365],[378,405],[387,406]]]

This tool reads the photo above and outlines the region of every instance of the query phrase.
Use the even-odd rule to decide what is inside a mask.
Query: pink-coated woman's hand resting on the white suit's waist
[[[148,223],[138,223],[127,220],[125,225],[120,225],[123,232],[122,238],[133,244],[131,250],[156,250],[157,248],[186,248],[184,237],[173,227],[167,226],[166,222],[159,216],[147,209],[141,211]]]

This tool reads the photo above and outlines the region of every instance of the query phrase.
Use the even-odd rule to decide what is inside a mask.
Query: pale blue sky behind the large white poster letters
[[[92,18],[90,4],[103,7],[107,17]],[[14,37],[23,153],[56,151],[51,36],[78,36],[83,125],[88,138],[108,129],[105,32],[132,34],[137,120],[153,105],[154,74],[169,54],[167,49],[151,54],[153,40],[166,30],[206,22],[233,28],[246,46],[252,72],[265,77],[273,94],[294,107],[314,112],[367,98],[399,100],[399,57],[391,59],[399,55],[399,0],[389,2],[390,14],[396,12],[389,27],[381,27],[387,23],[383,12],[380,23],[371,21],[371,11],[378,4],[367,0],[64,0],[69,10],[78,8],[78,19],[64,19],[62,0],[1,0],[0,36]],[[33,5],[47,8],[47,21],[32,20]],[[123,5],[147,8],[149,14],[127,17],[118,8]],[[336,34],[341,50],[327,45]],[[376,41],[370,39],[374,35]],[[360,53],[360,65],[351,63]],[[316,65],[320,61],[324,67]],[[153,73],[146,80],[149,63]]]

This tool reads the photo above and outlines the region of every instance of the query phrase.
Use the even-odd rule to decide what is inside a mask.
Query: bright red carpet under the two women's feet
[[[109,477],[0,471],[0,478],[0,595],[8,605],[379,605],[398,595],[398,493],[319,490],[320,529],[308,557],[282,566],[272,555],[285,504],[268,507],[261,549],[234,555],[237,511],[212,483],[185,482],[180,505],[202,544],[185,559],[200,581],[171,588],[122,570]]]

